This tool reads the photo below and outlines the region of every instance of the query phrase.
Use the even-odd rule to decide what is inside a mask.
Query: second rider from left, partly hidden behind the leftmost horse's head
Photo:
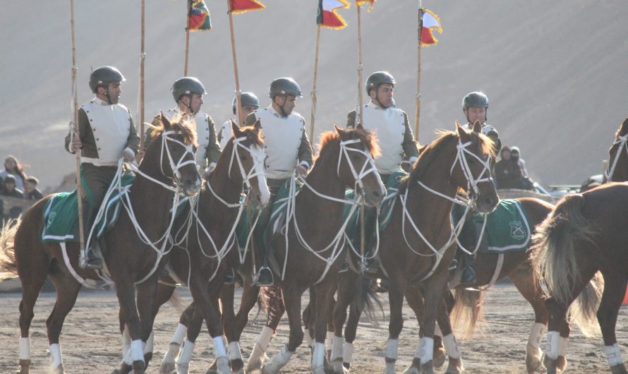
[[[186,117],[191,120],[196,129],[198,148],[196,149],[196,166],[203,178],[207,178],[216,167],[220,157],[220,145],[216,140],[216,129],[214,120],[209,114],[200,111],[203,107],[203,95],[205,86],[194,77],[183,77],[174,81],[172,88],[172,98],[176,102],[176,107],[164,110],[164,116],[172,121],[177,116]],[[152,120],[153,126],[159,126],[159,114]],[[146,147],[153,139],[150,136],[150,129],[146,132]]]

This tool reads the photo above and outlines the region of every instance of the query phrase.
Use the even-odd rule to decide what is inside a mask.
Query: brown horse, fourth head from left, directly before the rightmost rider
[[[449,361],[447,372],[459,373],[462,369],[449,317],[447,313],[440,313],[445,311],[443,296],[455,248],[449,215],[459,188],[469,191],[481,212],[492,211],[499,198],[489,176],[491,143],[481,135],[481,125],[476,123],[471,132],[458,124],[456,127],[454,132],[442,132],[422,150],[416,167],[399,186],[390,223],[380,233],[383,270],[376,277],[387,278],[390,283],[385,373],[395,373],[399,333],[403,327],[401,308],[404,296],[421,325],[417,352],[406,373],[433,373],[433,336],[437,316],[441,330],[448,332],[445,335],[447,352],[449,356],[454,356]],[[351,345],[347,346],[349,352],[343,352],[342,325],[353,291],[354,286],[339,287],[330,356],[334,373],[343,373],[343,356],[345,359],[351,356]],[[355,310],[350,318],[351,323],[357,322]]]

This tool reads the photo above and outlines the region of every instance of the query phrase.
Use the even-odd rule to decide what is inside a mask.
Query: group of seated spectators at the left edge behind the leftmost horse
[[[37,188],[39,181],[35,176],[27,176],[24,167],[16,157],[8,155],[4,159],[4,169],[0,170],[0,195],[25,200],[40,200],[44,196]],[[19,208],[19,207],[14,207]],[[5,212],[4,200],[0,199],[0,221],[16,218],[22,211]]]

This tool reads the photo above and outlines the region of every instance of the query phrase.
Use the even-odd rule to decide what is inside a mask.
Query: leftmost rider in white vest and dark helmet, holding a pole
[[[124,105],[119,104],[121,83],[126,79],[112,66],[102,66],[92,71],[90,88],[96,97],[78,109],[78,131],[66,136],[66,150],[80,150],[80,177],[83,188],[83,229],[87,240],[96,213],[109,183],[114,179],[118,160],[133,161],[138,152],[140,137],[133,126],[133,117]],[[102,259],[92,249],[96,241],[85,243],[87,253],[81,251],[80,267],[102,268]],[[85,248],[81,248],[84,250]],[[104,248],[101,248],[104,250]]]

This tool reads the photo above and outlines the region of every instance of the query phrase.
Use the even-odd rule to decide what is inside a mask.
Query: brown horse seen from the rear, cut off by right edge
[[[556,373],[557,357],[567,350],[569,330],[561,332],[560,325],[567,324],[568,309],[585,335],[593,334],[597,314],[611,372],[628,373],[615,337],[628,283],[627,201],[625,183],[567,195],[538,229],[534,265],[548,288],[548,373]]]

